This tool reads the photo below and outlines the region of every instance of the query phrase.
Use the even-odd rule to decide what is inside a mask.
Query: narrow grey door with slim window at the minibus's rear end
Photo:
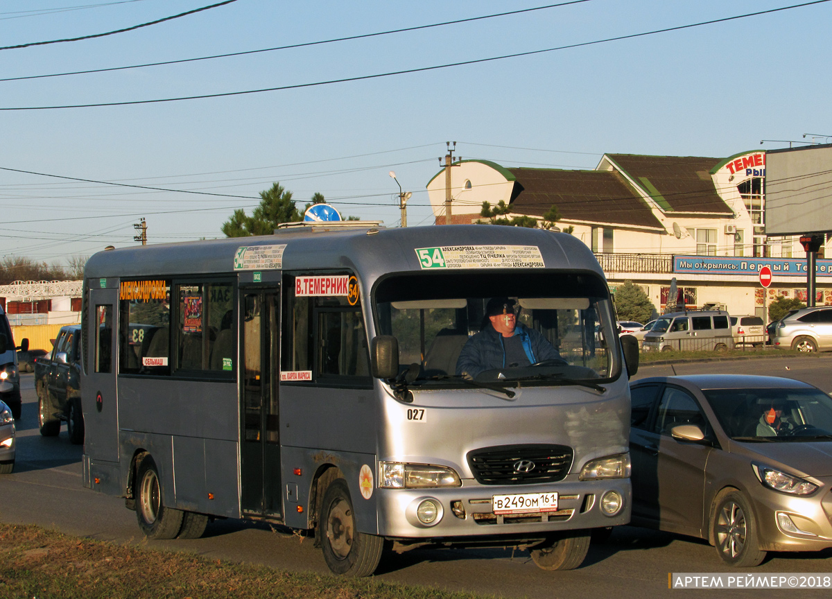
[[[87,347],[82,356],[84,453],[96,461],[118,462],[116,401],[116,314],[118,289],[92,289],[87,307]]]

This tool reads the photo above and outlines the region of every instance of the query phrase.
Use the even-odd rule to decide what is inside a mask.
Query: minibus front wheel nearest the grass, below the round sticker
[[[335,574],[366,577],[379,566],[384,538],[357,530],[353,502],[343,478],[326,488],[315,536],[320,537],[324,562]]]

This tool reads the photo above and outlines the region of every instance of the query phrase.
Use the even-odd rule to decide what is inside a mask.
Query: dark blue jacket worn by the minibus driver
[[[557,349],[534,329],[518,323],[514,334],[520,336],[522,348],[530,364],[561,357]],[[508,364],[506,364],[506,346],[503,344],[503,335],[494,330],[488,322],[483,330],[465,342],[462,351],[459,352],[457,374],[468,374],[476,378],[484,370],[506,366]]]

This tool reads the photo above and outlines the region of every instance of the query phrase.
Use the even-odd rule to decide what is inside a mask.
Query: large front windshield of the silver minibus
[[[494,329],[487,308],[497,297],[508,299],[524,339],[507,342]],[[591,273],[390,275],[374,299],[379,334],[398,339],[400,367],[417,364],[419,380],[597,382],[621,368],[607,286]]]

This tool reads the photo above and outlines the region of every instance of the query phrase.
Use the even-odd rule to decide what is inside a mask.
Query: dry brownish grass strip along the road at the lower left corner
[[[209,560],[187,553],[72,537],[34,525],[0,523],[4,599],[476,599],[374,578]]]

